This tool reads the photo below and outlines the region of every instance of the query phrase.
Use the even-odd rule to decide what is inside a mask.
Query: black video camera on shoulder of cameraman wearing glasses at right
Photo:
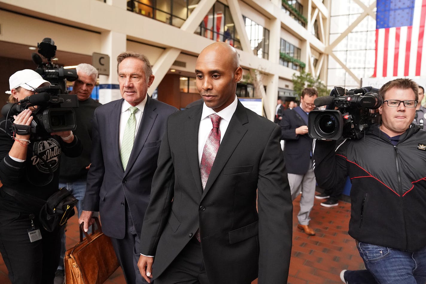
[[[377,108],[382,105],[383,99],[378,92],[373,87],[353,90],[334,87],[330,96],[315,99],[317,107],[327,107],[309,113],[309,137],[322,140],[337,140],[342,136],[362,138],[370,125],[380,122]]]

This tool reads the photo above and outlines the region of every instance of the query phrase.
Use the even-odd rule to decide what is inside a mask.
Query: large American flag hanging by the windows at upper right
[[[426,0],[377,0],[376,7],[373,77],[426,76]]]

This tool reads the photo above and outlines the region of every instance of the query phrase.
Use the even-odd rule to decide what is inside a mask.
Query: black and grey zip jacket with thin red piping
[[[314,140],[314,171],[324,188],[351,178],[351,237],[411,252],[426,246],[426,131],[412,124],[396,146],[378,125],[341,145]]]

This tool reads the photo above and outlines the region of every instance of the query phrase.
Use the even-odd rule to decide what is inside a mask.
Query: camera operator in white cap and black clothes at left
[[[9,101],[18,102],[50,83],[26,69],[10,76],[9,85]],[[14,115],[13,123],[31,125],[35,110],[37,106]],[[40,225],[41,206],[30,203],[27,195],[47,200],[58,191],[60,153],[78,156],[81,142],[72,131],[30,141],[29,134],[11,133],[11,123],[0,121],[0,252],[13,284],[51,284],[59,261],[59,229],[47,232]],[[6,189],[16,194],[6,194]]]

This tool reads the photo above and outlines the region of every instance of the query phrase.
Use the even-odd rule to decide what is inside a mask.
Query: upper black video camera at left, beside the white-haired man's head
[[[40,55],[33,52],[31,55],[32,61],[38,65],[35,72],[39,73],[43,79],[49,81],[53,85],[59,85],[61,93],[66,93],[66,80],[77,80],[77,71],[75,69],[64,69],[58,67],[57,64],[52,64],[52,58],[55,58],[56,46],[51,38],[43,38],[43,41],[37,43],[38,53],[46,58],[46,63],[43,62]]]

